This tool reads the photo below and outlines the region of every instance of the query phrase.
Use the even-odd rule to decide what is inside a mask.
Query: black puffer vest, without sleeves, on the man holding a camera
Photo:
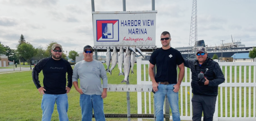
[[[208,71],[205,73],[205,77],[208,80],[215,79],[215,74],[213,72],[214,64],[217,63],[213,61],[211,58],[207,57],[206,62],[204,62],[201,67],[199,65],[199,62],[197,60],[194,61],[194,66],[191,67],[192,72],[192,92],[194,94],[199,95],[209,95],[209,96],[217,96],[218,95],[218,86],[209,87],[208,85],[199,86],[198,81],[200,80],[198,78],[198,74],[200,72],[205,72],[206,68],[208,68]]]

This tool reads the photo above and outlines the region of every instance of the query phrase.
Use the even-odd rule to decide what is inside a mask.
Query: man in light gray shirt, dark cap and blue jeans
[[[107,96],[105,68],[101,62],[92,59],[93,49],[91,46],[84,46],[83,56],[84,60],[75,64],[72,76],[75,90],[80,93],[82,121],[91,121],[92,109],[96,121],[105,121],[103,112],[103,98]],[[77,83],[78,78],[80,79],[80,88]]]

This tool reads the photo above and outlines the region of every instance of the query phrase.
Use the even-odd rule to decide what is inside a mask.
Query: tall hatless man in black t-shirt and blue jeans
[[[181,53],[170,46],[171,35],[164,31],[161,34],[162,48],[154,51],[150,57],[149,75],[152,87],[155,91],[155,115],[157,121],[164,120],[164,100],[168,97],[172,109],[173,121],[180,121],[179,89],[184,77],[184,59]],[[157,74],[154,76],[153,69],[157,66]],[[177,65],[180,69],[177,82]]]

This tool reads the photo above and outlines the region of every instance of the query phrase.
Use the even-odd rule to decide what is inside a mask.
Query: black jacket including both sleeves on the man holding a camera
[[[184,65],[190,68],[192,72],[192,92],[198,95],[217,96],[218,85],[225,81],[219,64],[209,57],[207,57],[206,61],[201,65],[201,67],[197,59],[184,60]],[[199,86],[198,81],[200,79],[198,78],[198,74],[200,72],[205,72],[206,68],[208,68],[208,71],[206,72],[205,77],[209,80],[209,85]]]

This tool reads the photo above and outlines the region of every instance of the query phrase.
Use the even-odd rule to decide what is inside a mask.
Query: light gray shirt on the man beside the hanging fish
[[[72,81],[80,79],[80,89],[84,94],[101,95],[103,88],[107,88],[107,75],[104,65],[96,60],[87,62],[82,60],[75,64],[73,69]],[[101,80],[103,88],[101,87]]]

